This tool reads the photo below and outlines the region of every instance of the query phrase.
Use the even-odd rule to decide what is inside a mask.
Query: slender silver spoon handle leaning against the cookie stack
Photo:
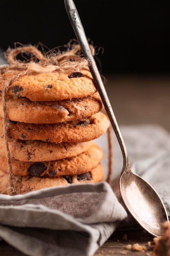
[[[104,84],[103,84],[101,76],[99,74],[99,70],[98,70],[97,65],[95,63],[95,59],[94,59],[93,54],[91,52],[90,46],[88,44],[88,40],[86,38],[86,34],[85,34],[84,28],[82,26],[82,22],[79,18],[79,14],[77,12],[77,9],[75,7],[75,4],[74,4],[73,0],[64,0],[64,4],[65,4],[65,7],[66,7],[68,17],[69,17],[70,22],[71,22],[71,25],[72,25],[73,30],[75,32],[75,35],[77,37],[77,40],[78,40],[78,42],[79,42],[79,44],[82,48],[82,52],[83,52],[84,56],[88,59],[89,69],[90,69],[91,74],[93,76],[93,79],[96,83],[97,90],[100,94],[100,97],[101,97],[102,102],[104,104],[104,107],[106,109],[107,115],[108,115],[108,117],[110,119],[110,122],[112,124],[112,127],[115,131],[115,135],[116,135],[116,137],[119,141],[119,145],[120,145],[121,152],[122,152],[123,159],[124,159],[124,167],[125,167],[126,164],[129,164],[126,146],[124,144],[123,137],[121,135],[121,132],[120,132],[119,126],[117,124],[115,115],[113,113],[113,109],[110,105],[110,101],[108,99],[106,90],[104,88]],[[124,167],[123,167],[123,169],[124,169]]]

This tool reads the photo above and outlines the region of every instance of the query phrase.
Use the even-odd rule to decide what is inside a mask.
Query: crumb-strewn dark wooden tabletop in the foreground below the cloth
[[[141,245],[144,249],[142,251],[126,249],[127,245],[133,246],[136,243]],[[155,255],[152,252],[153,247],[153,237],[144,231],[116,231],[112,236],[110,236],[104,245],[97,250],[94,256],[152,256]],[[23,254],[6,242],[0,241],[0,256],[28,255]]]

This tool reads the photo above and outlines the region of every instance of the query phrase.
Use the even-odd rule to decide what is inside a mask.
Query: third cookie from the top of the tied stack
[[[108,117],[98,112],[82,121],[57,124],[24,124],[11,121],[8,123],[8,136],[14,139],[55,143],[83,142],[97,139],[107,131],[109,126]]]

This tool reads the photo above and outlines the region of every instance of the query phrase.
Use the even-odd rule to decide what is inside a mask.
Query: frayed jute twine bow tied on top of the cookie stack
[[[64,72],[74,69],[79,70],[81,68],[87,69],[87,59],[77,55],[80,51],[80,46],[74,44],[72,46],[68,45],[68,47],[64,52],[51,50],[44,55],[32,45],[17,47],[15,49],[9,47],[4,55],[10,65],[0,67],[0,70],[4,68],[7,70],[27,70],[29,74],[30,72],[47,73],[53,71]],[[26,53],[28,58],[24,57],[23,61],[17,59],[17,56],[23,53]]]

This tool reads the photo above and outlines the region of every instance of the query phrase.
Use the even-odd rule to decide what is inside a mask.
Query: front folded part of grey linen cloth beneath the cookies
[[[0,195],[1,238],[33,256],[91,256],[126,216],[106,182]]]

